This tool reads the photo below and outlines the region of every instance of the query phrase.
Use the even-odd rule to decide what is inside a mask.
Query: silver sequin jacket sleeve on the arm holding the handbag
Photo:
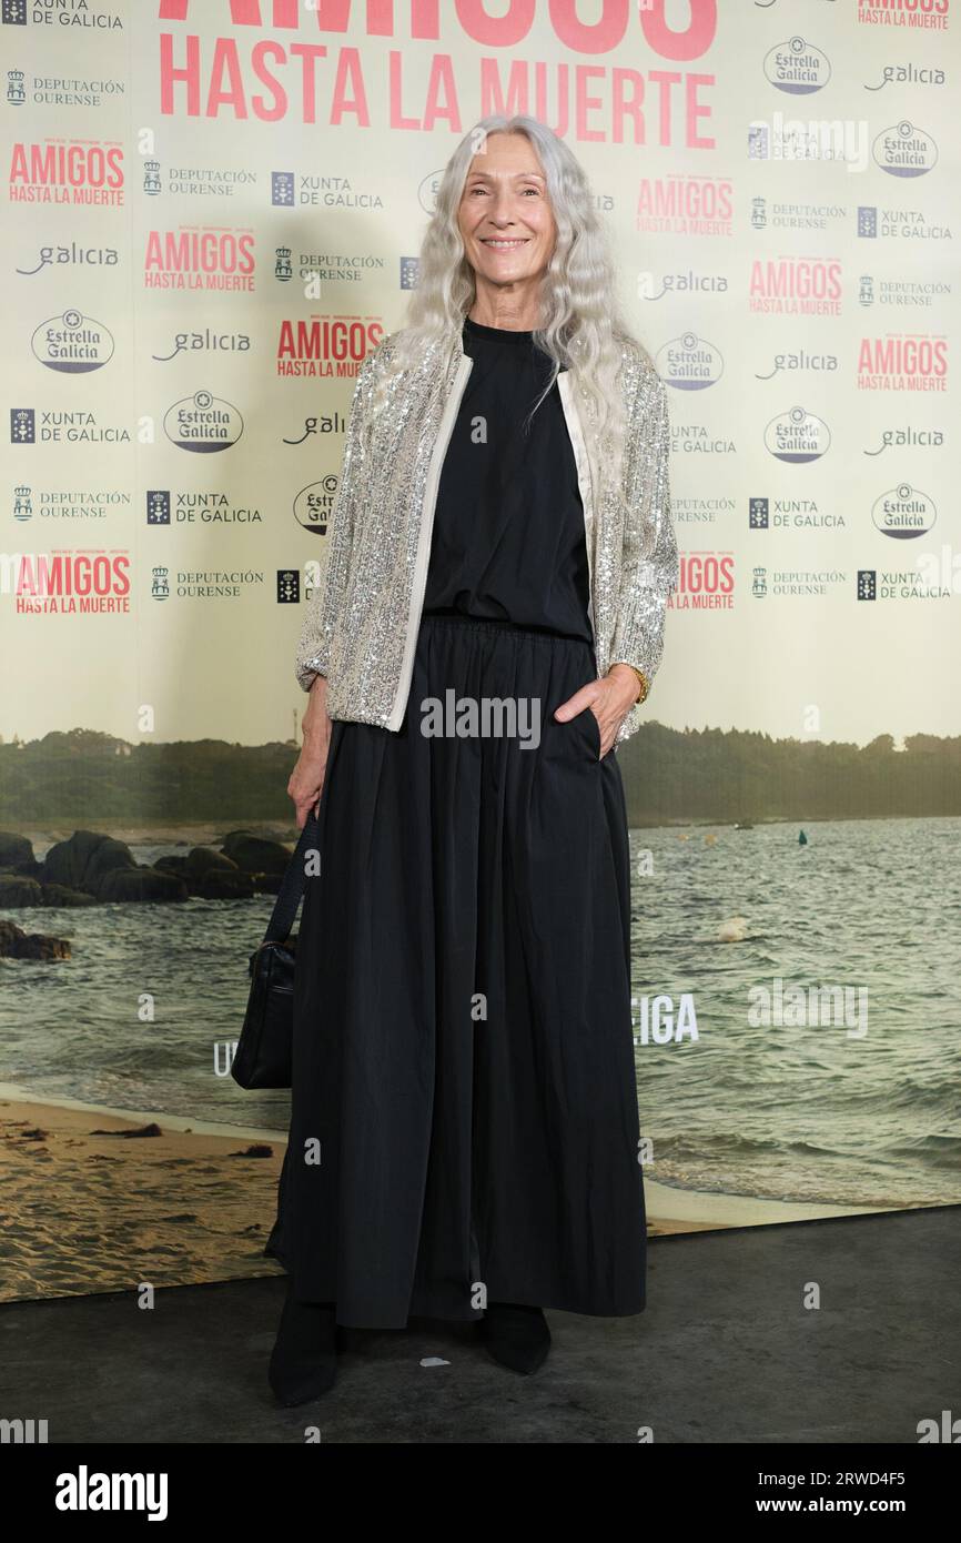
[[[353,386],[350,418],[344,440],[344,460],[330,514],[327,569],[321,582],[310,591],[310,599],[304,611],[304,625],[296,653],[296,679],[304,691],[310,691],[318,674],[327,674],[330,643],[347,588],[350,548],[358,512],[356,495],[362,481],[364,457],[367,454],[367,409],[375,358],[376,349],[361,364]]]

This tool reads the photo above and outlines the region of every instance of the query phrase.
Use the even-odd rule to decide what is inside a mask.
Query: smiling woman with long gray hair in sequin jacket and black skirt
[[[677,579],[666,463],[583,171],[483,120],[361,366],[298,653],[282,1403],[333,1383],[336,1324],[478,1321],[529,1373],[545,1307],[645,1305],[615,745]]]

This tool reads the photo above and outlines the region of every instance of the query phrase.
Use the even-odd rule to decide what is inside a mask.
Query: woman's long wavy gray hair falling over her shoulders
[[[612,475],[622,461],[625,421],[617,387],[622,341],[629,338],[642,353],[646,350],[622,315],[617,273],[588,177],[568,145],[538,119],[523,114],[484,117],[450,156],[421,244],[420,284],[410,296],[406,326],[396,335],[395,369],[413,366],[429,343],[460,333],[474,304],[474,268],[464,253],[458,210],[470,162],[483,151],[486,136],[495,133],[526,134],[534,145],[557,227],[543,276],[541,324],[534,330],[534,341],[554,360],[554,369],[532,414],[554,386],[558,366],[565,364],[583,409],[594,486],[600,488],[602,477]],[[615,478],[614,486],[617,483]]]

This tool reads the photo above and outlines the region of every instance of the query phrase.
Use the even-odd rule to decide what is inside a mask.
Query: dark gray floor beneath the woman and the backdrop
[[[285,1278],[0,1305],[0,1416],[51,1443],[918,1443],[961,1416],[961,1210],[657,1237],[637,1318],[548,1313],[531,1378],[477,1329],[341,1330],[338,1383],[279,1409]],[[821,1305],[807,1310],[805,1291]],[[421,1366],[440,1356],[447,1366]]]

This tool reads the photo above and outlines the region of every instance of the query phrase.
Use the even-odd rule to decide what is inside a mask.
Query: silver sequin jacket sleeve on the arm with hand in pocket
[[[625,452],[626,515],[620,597],[611,663],[642,670],[651,682],[663,653],[668,596],[677,586],[677,540],[671,522],[668,392],[645,360],[631,403]],[[637,708],[634,708],[637,714]],[[636,725],[625,725],[632,730]]]

